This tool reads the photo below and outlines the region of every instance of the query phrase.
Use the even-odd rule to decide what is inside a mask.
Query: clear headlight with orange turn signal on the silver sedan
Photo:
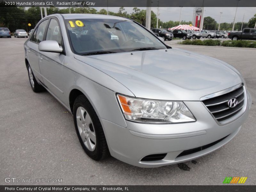
[[[147,100],[117,94],[127,120],[140,123],[183,123],[196,121],[182,101]]]

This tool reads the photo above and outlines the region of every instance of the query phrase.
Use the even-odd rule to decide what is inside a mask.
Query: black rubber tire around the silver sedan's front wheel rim
[[[83,140],[80,137],[78,127],[77,127],[77,122],[76,122],[76,110],[79,107],[83,107],[88,114],[90,115],[92,119],[92,124],[94,127],[95,135],[96,135],[96,147],[94,151],[88,150],[85,145]],[[73,105],[73,118],[74,118],[74,124],[76,128],[76,134],[78,136],[78,139],[85,151],[85,153],[91,157],[92,159],[99,161],[107,158],[109,156],[109,150],[108,150],[108,144],[105,138],[105,134],[103,132],[103,128],[101,126],[99,117],[97,116],[95,110],[93,109],[91,103],[89,100],[84,96],[84,95],[79,95]]]

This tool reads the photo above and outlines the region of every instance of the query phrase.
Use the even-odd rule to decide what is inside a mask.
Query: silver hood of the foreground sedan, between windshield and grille
[[[242,82],[227,63],[193,52],[172,48],[132,53],[75,58],[108,74],[139,98],[200,100]]]

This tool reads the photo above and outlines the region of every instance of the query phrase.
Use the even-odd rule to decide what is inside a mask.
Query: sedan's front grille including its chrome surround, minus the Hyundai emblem
[[[234,108],[228,107],[228,101],[232,98],[236,98],[238,101]],[[246,92],[244,84],[238,84],[226,90],[206,95],[201,98],[201,101],[215,121],[223,125],[234,121],[242,115],[244,112],[243,108],[246,107],[245,98]]]

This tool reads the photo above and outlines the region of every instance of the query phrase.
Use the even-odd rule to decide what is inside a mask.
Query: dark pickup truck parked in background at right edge
[[[241,32],[230,32],[228,33],[228,38],[232,40],[239,39],[248,39],[248,40],[256,40],[256,29],[254,28],[244,28]]]

